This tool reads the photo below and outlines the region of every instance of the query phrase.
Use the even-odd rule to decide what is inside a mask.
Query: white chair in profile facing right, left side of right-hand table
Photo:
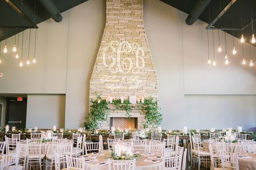
[[[204,149],[202,147],[200,147],[199,144],[199,139],[197,137],[193,137],[192,136],[192,143],[193,143],[193,166],[196,162],[196,160],[198,160],[198,169],[200,169],[200,165],[201,163],[206,164],[210,161],[210,152],[204,151]]]

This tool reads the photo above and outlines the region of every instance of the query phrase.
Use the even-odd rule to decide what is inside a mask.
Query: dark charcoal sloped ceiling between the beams
[[[10,26],[31,26],[31,24],[24,19],[23,16],[19,15],[16,10],[11,8],[11,6],[6,2],[7,0],[0,0],[0,40],[4,40],[8,37],[15,35],[18,32],[23,31],[23,28],[10,28]],[[59,10],[59,12],[64,12],[79,5],[87,0],[52,0],[53,4]],[[100,1],[100,0],[90,0],[90,1]],[[103,1],[103,0],[102,0]],[[200,0],[160,0],[166,4],[173,6],[181,11],[190,13],[194,6]],[[221,10],[231,0],[211,0],[210,2],[210,22],[218,16]],[[49,13],[45,10],[42,4],[38,0],[11,0],[19,9],[21,9],[26,16],[30,18],[36,24],[43,22],[50,18]],[[36,2],[36,12],[34,19],[34,5]],[[256,16],[256,1],[255,0],[237,0],[228,9],[225,14],[219,18],[218,22],[214,24],[215,27],[226,27],[232,29],[240,29],[241,25],[244,26],[251,21],[251,14],[254,18]],[[200,20],[209,23],[209,11],[208,6],[203,10],[199,16]],[[256,20],[256,19],[255,19]],[[2,26],[9,26],[9,29],[3,28]],[[7,30],[7,31],[6,31]],[[256,30],[256,25],[255,25]],[[227,33],[233,34],[232,31],[227,31]],[[251,25],[243,30],[244,36],[247,40],[251,37],[252,28]],[[255,33],[256,34],[256,33]],[[241,31],[234,31],[234,36],[240,38]]]

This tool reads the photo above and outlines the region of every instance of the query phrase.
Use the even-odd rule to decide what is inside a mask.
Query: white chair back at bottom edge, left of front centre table
[[[66,168],[69,169],[79,169],[83,170],[85,165],[84,165],[84,158],[73,158],[69,157],[66,155]]]

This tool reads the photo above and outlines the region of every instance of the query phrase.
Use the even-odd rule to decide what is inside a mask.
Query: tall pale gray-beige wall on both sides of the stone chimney
[[[232,128],[254,126],[256,69],[255,66],[241,65],[239,40],[235,38],[238,53],[232,56],[232,36],[227,34],[230,65],[224,64],[225,52],[215,52],[217,66],[207,65],[206,23],[198,20],[188,26],[184,22],[186,16],[158,0],[144,1],[144,25],[159,81],[163,128],[181,129],[186,125],[188,129],[213,126],[220,129],[224,124]],[[63,22],[55,23],[49,19],[38,26],[37,64],[20,68],[14,54],[5,55],[0,93],[38,94],[31,95],[35,102],[28,104],[31,118],[27,128],[33,128],[33,122],[45,112],[53,111],[55,116],[51,116],[57,118],[63,111],[63,108],[57,109],[56,98],[39,94],[66,94],[65,127],[76,129],[83,124],[89,109],[89,80],[105,26],[105,1],[87,1],[64,12]],[[224,49],[224,33],[220,31],[220,34]],[[25,35],[27,43],[28,31]],[[210,39],[211,35],[210,32]],[[217,31],[214,38],[217,49]],[[13,44],[13,39],[8,39],[8,46]],[[248,49],[249,45],[245,44],[246,59],[250,56]],[[255,51],[252,47],[254,59]],[[27,55],[24,48],[24,57]],[[56,105],[42,108],[36,101],[52,101]],[[42,126],[61,126],[58,121],[45,121]]]

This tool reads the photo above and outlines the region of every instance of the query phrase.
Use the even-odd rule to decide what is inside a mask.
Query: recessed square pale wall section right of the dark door
[[[26,128],[65,126],[65,95],[28,95]]]

